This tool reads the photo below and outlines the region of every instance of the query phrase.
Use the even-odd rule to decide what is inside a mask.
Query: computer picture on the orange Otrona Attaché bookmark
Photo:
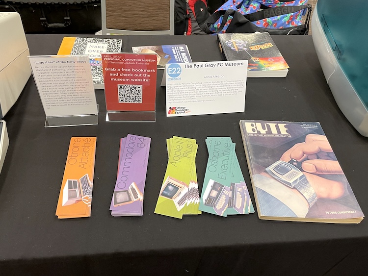
[[[88,174],[79,179],[67,179],[63,190],[62,206],[71,205],[79,201],[88,204],[92,197],[92,183]]]

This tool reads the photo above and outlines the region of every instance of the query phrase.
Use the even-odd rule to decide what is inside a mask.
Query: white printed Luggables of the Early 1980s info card
[[[97,114],[88,55],[30,56],[47,117]]]

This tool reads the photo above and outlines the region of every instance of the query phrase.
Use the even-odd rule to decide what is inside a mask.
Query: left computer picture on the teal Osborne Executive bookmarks
[[[210,179],[203,197],[204,204],[213,207],[216,214],[221,216],[228,206],[229,194],[229,187]]]

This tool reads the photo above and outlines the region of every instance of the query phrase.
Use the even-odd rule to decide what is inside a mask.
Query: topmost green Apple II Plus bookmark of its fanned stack
[[[197,149],[194,139],[173,137],[166,173],[156,203],[156,214],[178,219],[183,217]]]

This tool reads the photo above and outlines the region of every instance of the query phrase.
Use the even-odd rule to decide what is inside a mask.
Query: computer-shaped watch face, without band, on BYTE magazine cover
[[[267,167],[266,172],[290,188],[305,178],[305,175],[298,168],[281,160]]]

